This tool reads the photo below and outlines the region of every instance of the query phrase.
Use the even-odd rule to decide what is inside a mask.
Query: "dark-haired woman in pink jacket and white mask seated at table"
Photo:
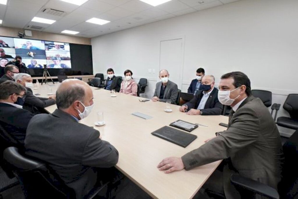
[[[132,72],[131,70],[124,71],[125,80],[121,83],[121,88],[119,93],[129,94],[129,95],[137,95],[138,85],[131,77]]]

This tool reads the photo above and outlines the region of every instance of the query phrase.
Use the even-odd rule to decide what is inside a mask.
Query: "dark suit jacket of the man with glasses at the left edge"
[[[26,129],[33,116],[27,110],[0,102],[0,124],[20,145],[24,145]]]

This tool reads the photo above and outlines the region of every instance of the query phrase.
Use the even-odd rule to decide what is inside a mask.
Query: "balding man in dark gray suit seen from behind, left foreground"
[[[77,79],[64,80],[56,92],[57,108],[52,114],[38,114],[30,121],[25,153],[49,167],[83,198],[97,183],[98,168],[113,167],[118,151],[100,138],[100,132],[81,124],[92,110],[91,87]],[[93,120],[93,118],[89,118]]]

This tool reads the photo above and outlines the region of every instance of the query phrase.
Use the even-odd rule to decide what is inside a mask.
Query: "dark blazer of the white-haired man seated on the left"
[[[28,87],[26,88],[27,88],[27,92],[25,94],[26,98],[25,98],[23,108],[27,109],[28,111],[32,113],[44,112],[42,110],[43,108],[56,103],[55,99],[36,97],[35,95],[33,95],[31,88],[28,88]]]

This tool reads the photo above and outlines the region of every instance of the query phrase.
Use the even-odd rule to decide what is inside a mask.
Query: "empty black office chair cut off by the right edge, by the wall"
[[[277,125],[294,130],[298,129],[298,94],[289,94],[283,108],[288,111],[290,117],[278,117]]]

